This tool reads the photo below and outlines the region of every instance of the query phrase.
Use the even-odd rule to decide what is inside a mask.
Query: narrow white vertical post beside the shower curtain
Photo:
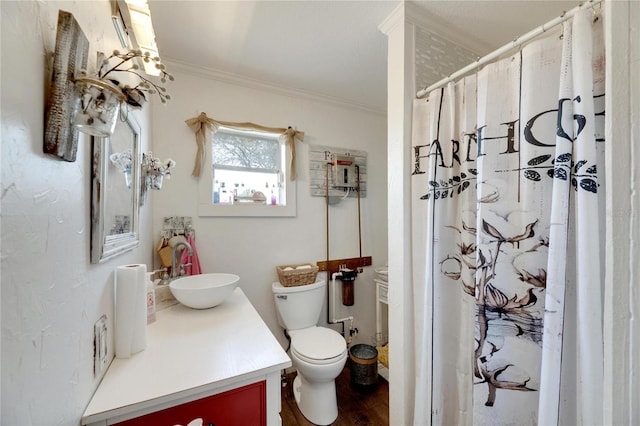
[[[407,3],[380,25],[388,38],[389,422],[413,423],[415,397],[411,268],[411,114],[415,94],[415,26]],[[429,404],[430,401],[425,401]]]

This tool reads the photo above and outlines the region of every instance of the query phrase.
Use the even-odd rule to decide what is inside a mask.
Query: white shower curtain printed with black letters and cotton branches
[[[417,425],[602,423],[602,21],[415,101]]]

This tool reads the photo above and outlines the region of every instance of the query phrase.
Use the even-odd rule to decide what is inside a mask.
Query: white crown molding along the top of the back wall
[[[223,83],[233,84],[236,86],[248,87],[252,89],[260,89],[268,92],[277,93],[284,96],[290,96],[293,98],[302,98],[313,100],[317,102],[329,103],[337,106],[341,106],[344,108],[357,109],[360,111],[376,114],[376,115],[387,115],[386,108],[378,108],[371,105],[361,104],[357,102],[353,102],[347,99],[328,96],[322,93],[312,92],[308,90],[294,89],[291,87],[281,86],[275,83],[271,83],[264,80],[259,80],[251,77],[246,77],[240,74],[230,73],[227,71],[216,70],[213,68],[201,67],[198,65],[190,64],[187,62],[179,61],[173,58],[165,58],[163,57],[163,63],[166,65],[170,65],[171,70],[180,70],[186,74],[190,74],[193,76],[216,80]]]

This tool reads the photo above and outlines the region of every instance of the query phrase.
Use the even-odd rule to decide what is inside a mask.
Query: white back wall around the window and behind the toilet
[[[240,287],[286,347],[271,294],[271,283],[277,281],[275,267],[286,263],[315,263],[326,257],[325,201],[310,196],[308,146],[367,151],[369,181],[367,196],[361,200],[362,254],[372,256],[374,266],[384,265],[387,261],[386,116],[170,62],[167,68],[175,74],[176,81],[168,85],[171,101],[167,105],[154,105],[153,154],[162,159],[173,158],[177,167],[163,189],[149,195],[154,203],[154,236],[156,240],[159,238],[163,217],[192,216],[203,272],[238,274]],[[198,217],[198,179],[191,176],[196,143],[184,121],[200,112],[221,121],[292,126],[305,132],[304,142],[297,145],[296,217]],[[329,214],[331,258],[358,257],[356,200],[350,198],[332,205]],[[158,262],[156,258],[156,266]],[[375,333],[373,275],[373,268],[366,267],[356,279],[354,306],[342,307],[338,312],[355,317],[360,334],[354,342],[370,343]],[[325,310],[322,320],[326,318]]]

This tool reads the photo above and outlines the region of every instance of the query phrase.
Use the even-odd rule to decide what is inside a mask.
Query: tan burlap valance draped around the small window
[[[218,121],[207,117],[207,114],[201,112],[197,117],[185,120],[187,126],[196,134],[196,144],[198,145],[196,159],[193,166],[192,176],[199,177],[206,157],[205,141],[211,140],[211,135],[215,133],[219,127],[229,127],[237,130],[249,130],[258,132],[268,132],[280,134],[280,142],[285,143],[291,151],[291,165],[289,169],[290,180],[296,180],[296,140],[302,142],[304,140],[304,132],[295,130],[291,127],[265,127],[254,123],[232,123],[228,121]]]

